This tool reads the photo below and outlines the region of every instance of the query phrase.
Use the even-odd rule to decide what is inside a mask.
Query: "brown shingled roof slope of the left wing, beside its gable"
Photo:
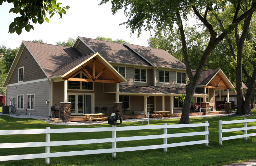
[[[37,62],[46,72],[48,77],[52,77],[53,73],[59,70],[60,66],[66,60],[82,56],[80,52],[72,47],[37,43],[31,41],[23,42],[32,53],[32,55],[36,58]]]

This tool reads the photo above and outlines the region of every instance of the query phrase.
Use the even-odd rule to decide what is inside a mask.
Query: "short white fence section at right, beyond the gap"
[[[256,133],[247,134],[247,130],[256,129],[256,126],[247,127],[247,122],[256,122],[256,119],[246,119],[246,118],[244,118],[244,120],[231,120],[231,121],[221,121],[221,120],[219,120],[219,144],[222,145],[222,141],[232,140],[232,139],[237,139],[237,138],[244,138],[247,141],[247,137],[255,136]],[[244,123],[244,127],[222,129],[223,124],[235,124],[235,123]],[[223,132],[236,132],[236,131],[244,131],[244,134],[230,136],[230,137],[222,137]]]

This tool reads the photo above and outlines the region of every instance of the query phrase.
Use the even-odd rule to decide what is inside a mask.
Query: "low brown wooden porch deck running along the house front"
[[[217,115],[217,114],[227,114],[228,112],[227,111],[211,111],[209,112],[210,114],[209,115]],[[181,113],[180,114],[170,114],[172,115],[171,117],[181,117]],[[189,113],[190,116],[200,116],[200,113],[199,112],[191,112]],[[203,112],[201,115],[205,115],[205,113]],[[110,115],[103,115],[102,117],[106,117],[108,118]],[[74,122],[74,121],[83,121],[83,119],[81,119],[81,117],[84,117],[82,115],[79,115],[79,116],[71,116],[71,121]],[[150,118],[153,118],[152,115],[149,115]],[[125,114],[123,115],[123,118],[124,119],[134,119],[134,118],[142,118],[142,115],[139,115],[139,114]]]

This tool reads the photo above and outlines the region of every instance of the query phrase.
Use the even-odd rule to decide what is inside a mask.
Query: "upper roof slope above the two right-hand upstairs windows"
[[[127,44],[127,43],[126,43]],[[138,52],[141,56],[146,58],[149,62],[155,66],[171,67],[178,69],[186,69],[184,63],[163,49],[155,49],[150,47],[143,47],[133,44],[127,44],[129,47]]]

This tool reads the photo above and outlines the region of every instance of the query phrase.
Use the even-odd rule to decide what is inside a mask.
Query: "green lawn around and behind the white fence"
[[[256,110],[252,110],[252,114],[256,114]],[[254,119],[256,117],[246,117],[247,119]],[[223,141],[223,146],[219,145],[218,124],[219,120],[241,120],[244,117],[207,117],[205,118],[191,118],[190,123],[205,123],[209,122],[209,147],[202,145],[184,146],[168,148],[167,153],[163,152],[163,149],[152,149],[132,152],[117,153],[116,158],[112,158],[112,154],[98,154],[98,155],[79,155],[79,156],[67,156],[67,157],[55,157],[50,158],[50,166],[113,166],[113,165],[179,165],[179,166],[205,166],[205,165],[227,165],[230,163],[242,162],[247,160],[256,159],[255,145],[256,137],[248,137],[248,140],[235,139]],[[162,119],[152,120],[150,125],[160,125],[163,123],[177,124],[179,119]],[[46,126],[50,128],[86,128],[86,127],[109,127],[108,124],[95,124],[84,126],[68,126],[68,125],[52,125],[45,123],[41,120],[26,119],[26,118],[13,118],[9,116],[0,116],[0,125],[2,130],[14,130],[14,129],[44,129]],[[140,126],[142,122],[129,122],[123,123],[121,126]],[[248,123],[248,126],[256,125],[256,123]],[[231,127],[243,127],[243,124],[230,124],[223,126],[227,128]],[[168,129],[168,133],[179,132],[195,132],[204,131],[204,127],[192,128],[180,128],[180,129]],[[256,132],[250,131],[248,133]],[[127,131],[117,132],[117,137],[126,137],[132,135],[148,135],[148,134],[162,134],[163,130],[145,130],[145,131]],[[243,134],[243,132],[235,132],[236,134]],[[223,137],[231,136],[234,134],[223,133]],[[57,140],[85,140],[96,138],[110,138],[111,132],[93,132],[93,133],[68,133],[68,134],[51,134],[51,141]],[[204,136],[194,136],[187,138],[169,138],[168,143],[203,140]],[[11,142],[37,142],[44,141],[45,134],[31,134],[31,135],[19,135],[17,136],[0,136],[1,143]],[[117,147],[128,146],[145,146],[162,144],[163,139],[156,140],[142,140],[142,141],[126,141],[117,142]],[[100,148],[111,148],[112,143],[102,144],[88,144],[88,145],[76,145],[76,146],[62,146],[62,147],[50,147],[50,152],[61,151],[77,151],[77,150],[90,150]],[[0,149],[0,155],[19,155],[19,154],[33,154],[44,153],[44,147],[36,148],[9,148]],[[45,165],[43,159],[29,159],[29,160],[17,160],[17,161],[5,161],[0,163],[1,166],[41,166]]]

